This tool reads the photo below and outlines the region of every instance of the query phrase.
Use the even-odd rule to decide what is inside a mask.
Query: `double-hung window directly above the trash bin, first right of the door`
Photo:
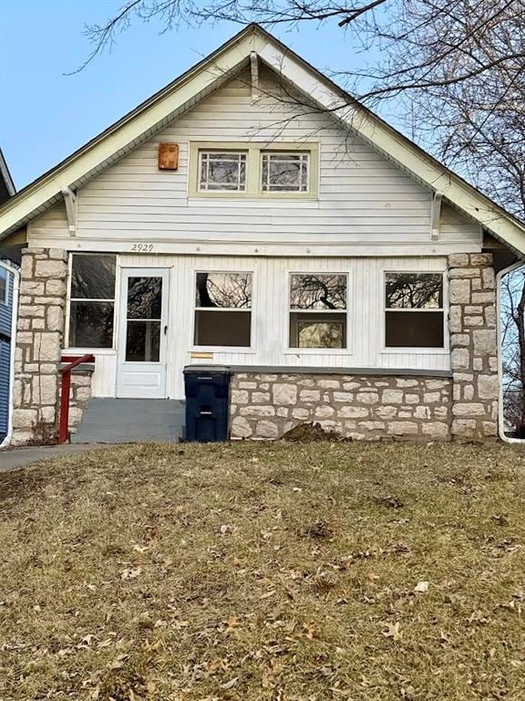
[[[196,346],[252,345],[252,273],[200,272],[195,278]]]

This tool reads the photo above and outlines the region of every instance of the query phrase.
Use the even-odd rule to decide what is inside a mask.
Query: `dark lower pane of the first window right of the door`
[[[251,345],[252,314],[249,311],[195,312],[196,346]]]

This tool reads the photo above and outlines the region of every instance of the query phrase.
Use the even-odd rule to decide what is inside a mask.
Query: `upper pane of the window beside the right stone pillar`
[[[443,276],[440,273],[387,273],[386,307],[441,309]]]

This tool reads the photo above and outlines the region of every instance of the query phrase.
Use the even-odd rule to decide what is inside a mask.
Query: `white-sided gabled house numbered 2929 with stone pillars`
[[[170,425],[191,363],[231,368],[234,438],[498,434],[496,274],[525,225],[259,26],[16,194],[0,234],[23,248],[17,444],[53,433],[61,361],[88,353],[71,426],[87,407],[101,440]]]

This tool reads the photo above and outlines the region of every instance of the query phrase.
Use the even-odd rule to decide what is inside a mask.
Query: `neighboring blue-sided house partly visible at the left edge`
[[[0,205],[15,194],[15,183],[0,149]],[[0,256],[4,252],[0,249]],[[11,336],[15,270],[0,257],[0,443],[9,429],[11,380]]]

